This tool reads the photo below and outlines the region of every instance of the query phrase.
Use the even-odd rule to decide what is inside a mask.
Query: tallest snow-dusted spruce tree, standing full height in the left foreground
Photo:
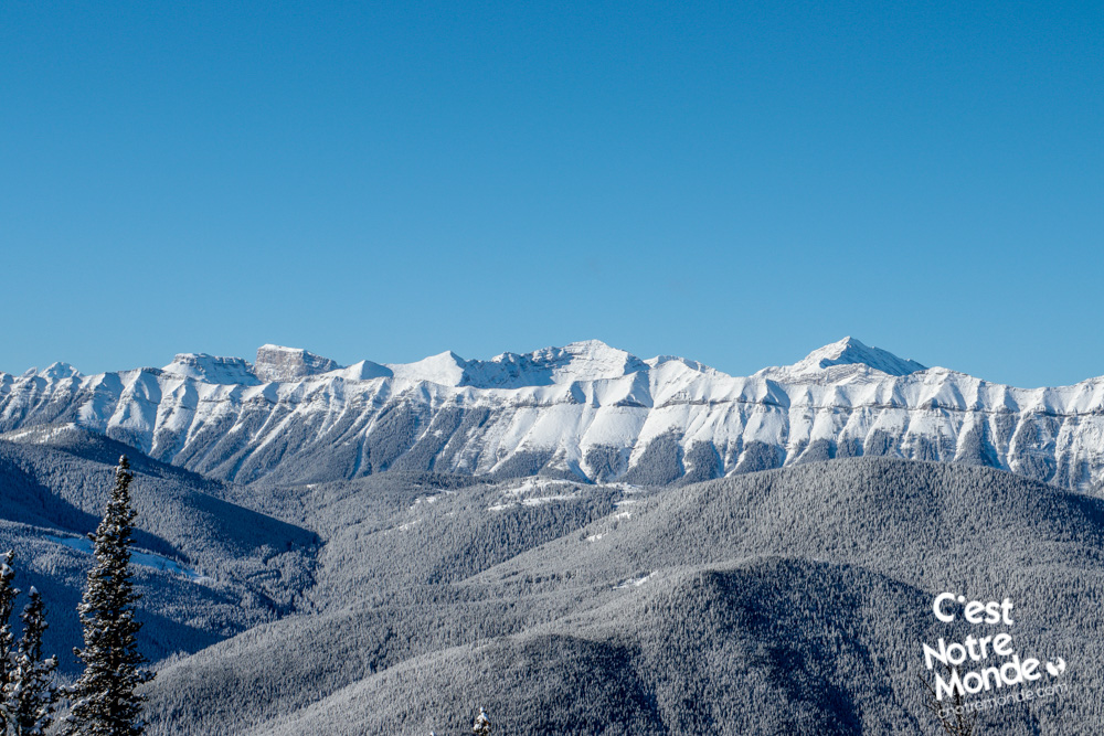
[[[141,669],[138,653],[141,625],[134,618],[140,597],[130,578],[130,535],[136,512],[130,508],[134,473],[126,456],[115,469],[115,487],[95,534],[89,534],[96,565],[88,573],[84,600],[77,607],[84,627],[84,649],[74,650],[84,673],[70,689],[73,705],[65,718],[65,736],[138,736],[145,696],[138,685],[153,674]]]

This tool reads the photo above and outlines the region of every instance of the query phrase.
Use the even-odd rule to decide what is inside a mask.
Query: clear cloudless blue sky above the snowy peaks
[[[0,3],[0,371],[1104,374],[1098,2]]]

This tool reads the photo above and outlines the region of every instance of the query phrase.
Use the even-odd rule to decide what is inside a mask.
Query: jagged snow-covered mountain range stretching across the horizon
[[[672,483],[859,455],[1104,483],[1104,377],[1015,388],[846,338],[736,377],[598,341],[467,361],[340,366],[264,345],[162,369],[0,373],[0,438],[93,431],[215,478],[388,469]]]

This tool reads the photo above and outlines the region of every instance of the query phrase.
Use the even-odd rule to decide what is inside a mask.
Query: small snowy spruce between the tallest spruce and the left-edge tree
[[[13,736],[43,736],[54,721],[57,707],[57,686],[54,671],[57,658],[42,659],[42,632],[46,630],[46,607],[33,587],[31,602],[23,609],[23,637],[15,652],[15,666],[10,682],[3,689],[4,710],[8,715],[8,734]]]

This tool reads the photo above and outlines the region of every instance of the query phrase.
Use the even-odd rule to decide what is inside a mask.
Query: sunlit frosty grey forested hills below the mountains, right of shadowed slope
[[[382,476],[300,512],[328,530],[311,612],[163,668],[155,733],[461,733],[479,706],[511,734],[934,733],[921,642],[963,633],[932,615],[944,590],[1010,598],[1025,657],[1070,663],[1065,695],[981,733],[1104,728],[1104,504],[1009,473]]]

